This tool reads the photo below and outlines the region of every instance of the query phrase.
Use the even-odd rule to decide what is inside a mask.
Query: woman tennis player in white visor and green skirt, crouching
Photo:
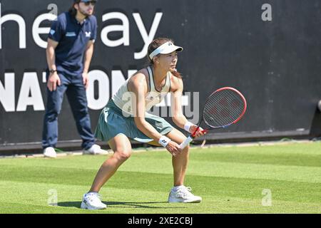
[[[196,125],[188,122],[182,111],[183,81],[180,73],[175,70],[179,51],[183,51],[183,48],[175,46],[169,38],[156,38],[152,41],[148,46],[150,66],[128,78],[101,111],[95,136],[107,141],[114,153],[101,165],[91,190],[83,195],[81,208],[106,208],[98,192],[118,167],[131,156],[129,138],[162,145],[172,155],[174,186],[170,190],[168,202],[202,200],[190,192],[190,187],[184,186],[189,147],[181,150],[179,144],[185,140],[185,135],[163,118],[147,113],[153,105],[161,103],[167,93],[171,93],[173,123],[190,133],[197,129]],[[205,134],[202,130],[198,129],[196,137]]]

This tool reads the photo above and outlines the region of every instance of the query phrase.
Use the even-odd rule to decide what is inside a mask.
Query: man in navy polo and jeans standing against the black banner
[[[95,5],[96,0],[73,0],[71,9],[60,14],[51,26],[46,48],[48,95],[42,135],[46,157],[56,157],[58,114],[65,92],[83,140],[83,152],[104,151],[95,144],[86,98],[88,69],[97,33],[97,20],[93,16]]]

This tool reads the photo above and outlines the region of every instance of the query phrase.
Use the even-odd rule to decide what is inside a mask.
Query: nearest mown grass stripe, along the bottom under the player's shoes
[[[79,195],[83,189],[77,186],[46,185],[21,182],[0,182],[0,186],[13,186],[14,190],[7,197],[0,198],[1,213],[320,213],[320,203],[282,201],[272,197],[272,205],[264,207],[261,199],[205,195],[200,204],[168,204],[164,192],[148,190],[132,191],[117,187],[102,190],[103,202],[108,208],[103,211],[90,212],[81,210]],[[56,188],[58,206],[49,206],[46,190]],[[0,187],[1,189],[1,187]],[[25,190],[25,194],[21,194]],[[19,200],[15,193],[19,194]],[[30,195],[38,192],[35,200]],[[71,194],[74,192],[74,194]]]

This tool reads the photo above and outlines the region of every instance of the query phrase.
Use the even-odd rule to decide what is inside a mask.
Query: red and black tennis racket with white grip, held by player
[[[198,123],[198,128],[203,121],[209,129],[227,128],[229,125],[237,123],[245,114],[246,100],[240,91],[231,87],[223,87],[215,90],[205,102],[203,117]],[[195,133],[190,134],[184,142],[180,144],[183,150],[195,138]],[[209,129],[203,130],[203,133]]]

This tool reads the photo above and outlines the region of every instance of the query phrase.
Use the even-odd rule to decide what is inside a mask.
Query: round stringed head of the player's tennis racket
[[[245,100],[234,90],[213,93],[205,103],[203,118],[212,128],[230,125],[240,118],[245,110]]]

